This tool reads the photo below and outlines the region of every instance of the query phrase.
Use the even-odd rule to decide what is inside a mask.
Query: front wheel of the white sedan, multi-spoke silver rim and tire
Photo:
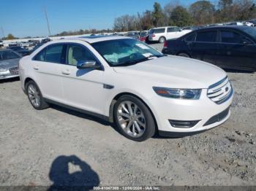
[[[119,132],[127,139],[146,141],[154,136],[156,132],[154,118],[140,99],[132,95],[122,95],[116,101],[113,112]]]

